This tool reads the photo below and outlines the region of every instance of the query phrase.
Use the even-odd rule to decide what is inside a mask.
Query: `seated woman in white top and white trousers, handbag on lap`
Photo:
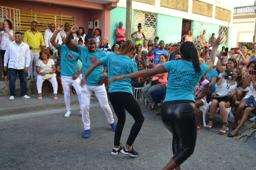
[[[45,71],[52,69],[52,71],[47,74]],[[48,80],[52,83],[53,87],[53,94],[54,100],[58,100],[57,92],[58,92],[58,83],[55,74],[56,68],[52,56],[50,55],[49,51],[46,49],[42,49],[39,52],[39,59],[36,62],[36,72],[37,72],[37,80],[36,80],[36,87],[38,91],[38,100],[42,100],[42,85],[45,80]],[[55,76],[51,78],[44,77],[46,75],[55,74]]]

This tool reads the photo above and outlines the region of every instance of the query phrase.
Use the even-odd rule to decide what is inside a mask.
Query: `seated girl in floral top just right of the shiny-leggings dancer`
[[[201,58],[201,59],[203,59],[203,58]],[[206,80],[204,77],[205,77],[205,74],[202,76],[200,81],[197,83],[197,86],[194,91],[194,96],[195,96],[195,101],[196,101],[195,108],[197,108],[199,106],[203,106],[206,103],[206,93],[208,91],[210,82],[208,80]],[[197,130],[199,130],[199,129],[201,129],[201,125],[200,125],[198,109],[196,109],[196,120],[197,120]]]

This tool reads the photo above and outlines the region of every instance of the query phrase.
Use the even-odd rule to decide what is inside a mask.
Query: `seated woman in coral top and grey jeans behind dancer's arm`
[[[156,67],[164,63],[166,61],[166,58],[167,56],[165,54],[161,54],[159,56],[159,64],[157,64]],[[168,73],[154,75],[152,78],[152,82],[154,80],[158,82],[156,84],[151,82],[151,83],[148,83],[146,86],[142,87],[141,92],[145,96],[148,103],[150,104],[150,110],[154,110],[154,105],[155,105],[154,100],[151,97],[151,92],[156,89],[165,89],[165,86],[167,83],[166,82],[167,76],[168,76]]]

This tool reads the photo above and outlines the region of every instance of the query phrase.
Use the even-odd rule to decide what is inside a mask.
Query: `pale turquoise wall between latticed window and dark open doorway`
[[[159,37],[159,41],[163,40],[165,44],[180,42],[181,31],[182,18],[162,14],[157,15],[157,36]]]

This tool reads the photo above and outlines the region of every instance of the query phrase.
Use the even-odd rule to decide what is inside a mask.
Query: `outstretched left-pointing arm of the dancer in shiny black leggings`
[[[122,75],[122,76],[117,76],[117,77],[112,77],[112,81],[117,81],[117,80],[122,80],[125,78],[136,78],[136,77],[150,77],[156,74],[161,74],[161,73],[166,73],[166,69],[163,65],[159,65],[157,67],[154,67],[152,69],[146,69],[146,70],[141,70],[137,72],[133,72],[130,74]]]

